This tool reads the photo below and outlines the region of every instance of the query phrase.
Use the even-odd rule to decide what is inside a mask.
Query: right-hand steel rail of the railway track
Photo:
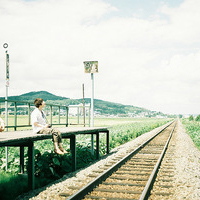
[[[165,146],[164,146],[164,148],[162,150],[162,153],[161,153],[161,155],[160,155],[160,157],[159,157],[159,159],[158,159],[158,161],[157,161],[157,163],[156,163],[156,165],[155,165],[155,167],[154,167],[154,169],[153,169],[153,171],[152,171],[152,173],[151,173],[151,175],[150,175],[150,177],[149,177],[149,179],[147,181],[147,184],[146,184],[146,186],[145,186],[145,188],[144,188],[144,190],[142,192],[142,195],[140,196],[139,200],[146,200],[149,197],[150,191],[152,189],[152,186],[153,186],[154,181],[156,179],[156,175],[158,173],[158,169],[159,169],[159,167],[161,165],[161,162],[162,162],[162,160],[164,158],[165,152],[166,152],[167,147],[169,145],[170,139],[171,139],[172,134],[174,132],[174,129],[176,127],[176,123],[175,123],[175,125],[174,125],[174,127],[173,127],[173,129],[172,129],[172,131],[170,133],[170,136],[169,136],[169,138],[168,138],[168,140],[167,140],[167,142],[166,142],[166,144],[165,144]]]

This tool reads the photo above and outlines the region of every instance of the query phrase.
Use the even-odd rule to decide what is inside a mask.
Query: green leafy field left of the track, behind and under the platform
[[[14,119],[12,118],[14,121]],[[56,119],[55,119],[56,120]],[[81,121],[82,119],[80,119]],[[110,150],[122,145],[156,127],[166,124],[170,119],[156,118],[95,118],[95,126],[108,127],[110,130]],[[18,117],[18,122],[24,124],[24,116]],[[69,118],[69,122],[76,123],[77,118]],[[10,122],[11,124],[12,122]],[[95,139],[95,138],[94,138]],[[95,143],[94,143],[95,144]],[[59,156],[53,152],[51,140],[37,141],[35,147],[35,177],[36,187],[46,185],[71,171],[71,154],[69,140],[63,141],[68,154]],[[100,156],[106,154],[106,137],[100,136]],[[84,168],[95,161],[95,154],[91,155],[91,136],[77,136],[77,168]],[[25,148],[25,163],[27,164],[27,149]],[[8,171],[5,172],[5,148],[0,148],[0,193],[4,199],[14,199],[20,193],[26,192],[27,177],[19,176],[19,147],[9,147]],[[15,184],[15,183],[18,184]],[[15,185],[15,191],[10,194]],[[22,189],[23,188],[23,189]],[[8,192],[6,192],[8,191]],[[9,196],[6,196],[9,195]],[[12,195],[12,196],[10,196]]]

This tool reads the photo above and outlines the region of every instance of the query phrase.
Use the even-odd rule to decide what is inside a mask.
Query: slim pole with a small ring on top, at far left
[[[6,54],[6,95],[5,95],[5,125],[6,125],[6,131],[8,131],[8,87],[9,87],[9,54],[8,54],[8,44],[4,43],[3,47],[5,49]],[[8,170],[8,147],[5,147],[5,153],[6,153],[6,171]]]

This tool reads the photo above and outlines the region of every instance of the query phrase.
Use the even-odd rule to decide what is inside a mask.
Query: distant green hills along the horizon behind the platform
[[[70,99],[62,96],[56,96],[47,91],[29,92],[18,96],[10,96],[8,97],[8,100],[33,102],[35,98],[42,98],[46,103],[56,105],[68,106],[83,103],[83,99]],[[1,97],[0,99],[4,98]],[[90,98],[85,98],[85,104],[89,103]],[[96,115],[104,116],[114,115],[119,117],[167,117],[167,115],[161,112],[150,111],[145,108],[123,105],[99,99],[94,99],[94,111]]]

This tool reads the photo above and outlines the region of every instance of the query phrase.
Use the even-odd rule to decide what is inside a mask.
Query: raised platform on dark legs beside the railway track
[[[66,127],[59,128],[62,138],[70,139],[70,151],[72,154],[72,171],[76,170],[76,135],[96,135],[96,158],[99,159],[99,134],[106,133],[106,150],[109,153],[109,130],[104,127]],[[0,147],[20,147],[20,172],[24,173],[24,147],[28,147],[28,187],[35,189],[35,160],[34,142],[38,140],[52,139],[51,135],[34,134],[29,131],[13,131],[0,133]]]

